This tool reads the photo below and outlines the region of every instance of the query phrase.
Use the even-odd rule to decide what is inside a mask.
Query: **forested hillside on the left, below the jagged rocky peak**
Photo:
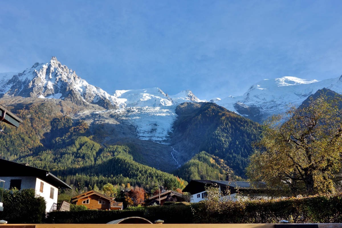
[[[78,189],[106,183],[184,187],[172,174],[133,161],[137,151],[129,146],[100,146],[86,122],[54,110],[50,103],[34,103],[16,110],[23,119],[18,129],[0,122],[1,158],[52,171]]]

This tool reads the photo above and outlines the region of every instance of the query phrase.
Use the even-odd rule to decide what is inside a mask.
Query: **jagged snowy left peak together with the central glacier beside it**
[[[172,132],[176,106],[183,102],[201,102],[190,90],[172,96],[159,88],[117,90],[110,95],[81,79],[56,57],[49,63],[35,63],[20,73],[1,73],[0,83],[0,97],[56,98],[77,105],[102,106],[107,110],[95,112],[96,115],[126,121],[135,127],[140,139],[160,143]]]

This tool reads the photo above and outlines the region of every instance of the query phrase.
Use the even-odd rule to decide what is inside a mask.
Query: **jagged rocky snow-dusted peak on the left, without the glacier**
[[[88,84],[76,72],[62,65],[56,57],[49,63],[35,63],[21,73],[2,77],[0,96],[57,98],[75,104],[92,103],[105,108],[118,108],[120,101],[101,88]]]

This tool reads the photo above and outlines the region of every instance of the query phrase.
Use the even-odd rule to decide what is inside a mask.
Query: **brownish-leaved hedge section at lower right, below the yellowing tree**
[[[203,202],[193,205],[195,223],[341,223],[342,194],[272,200]]]

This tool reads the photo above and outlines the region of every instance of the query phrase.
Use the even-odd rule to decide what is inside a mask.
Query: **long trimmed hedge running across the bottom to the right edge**
[[[139,216],[165,223],[341,223],[342,194],[272,200],[246,200],[129,207],[126,210],[51,212],[46,223],[108,223]]]

